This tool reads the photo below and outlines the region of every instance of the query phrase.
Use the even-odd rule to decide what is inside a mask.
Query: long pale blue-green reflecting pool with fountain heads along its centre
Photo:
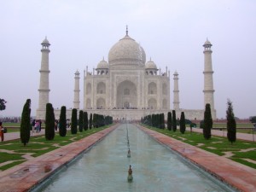
[[[127,142],[129,138],[129,143]],[[128,148],[131,158],[127,157]],[[133,181],[127,182],[131,165]],[[233,191],[206,172],[123,124],[61,171],[43,191]]]

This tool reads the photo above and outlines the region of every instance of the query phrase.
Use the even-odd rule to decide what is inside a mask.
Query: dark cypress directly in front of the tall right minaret
[[[211,105],[209,103],[206,104],[206,110],[204,113],[204,127],[203,134],[205,139],[210,139],[212,137],[212,113],[211,113]]]

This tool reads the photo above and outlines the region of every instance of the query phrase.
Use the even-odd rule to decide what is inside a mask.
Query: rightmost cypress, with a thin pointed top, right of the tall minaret
[[[227,118],[227,137],[231,144],[236,142],[236,119],[235,114],[233,113],[233,105],[230,99],[228,99],[228,108],[226,111],[226,118]]]

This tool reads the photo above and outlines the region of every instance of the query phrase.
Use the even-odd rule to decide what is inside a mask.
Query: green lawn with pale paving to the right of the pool
[[[248,162],[247,160],[244,160],[244,159],[249,159],[249,160],[256,161],[256,143],[236,140],[236,143],[231,144],[226,137],[212,136],[211,139],[206,140],[201,133],[197,133],[197,132],[190,133],[188,128],[186,132],[182,134],[179,130],[177,130],[176,132],[173,132],[173,131],[161,130],[158,128],[149,127],[146,125],[144,126],[147,127],[148,129],[163,133],[166,136],[173,137],[179,141],[182,141],[183,143],[188,143],[190,145],[212,152],[213,154],[218,154],[222,156],[224,155],[225,152],[232,152],[234,155],[230,157],[230,160],[235,160],[241,164],[244,164],[246,166],[251,166],[254,169],[256,169],[256,164]],[[250,150],[250,148],[252,150]],[[241,150],[244,150],[244,149],[248,149],[249,151],[242,152]]]

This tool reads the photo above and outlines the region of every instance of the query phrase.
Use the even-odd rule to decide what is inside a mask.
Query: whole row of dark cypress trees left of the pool
[[[31,131],[31,100],[27,99],[23,107],[21,114],[21,123],[20,123],[20,140],[21,143],[26,146],[30,139]],[[55,138],[55,113],[54,108],[51,103],[46,104],[46,113],[45,113],[45,139],[53,140]],[[92,128],[102,127],[104,125],[113,124],[113,117],[104,116],[102,114],[88,113],[83,110],[79,110],[79,119],[78,119],[78,110],[73,108],[72,117],[71,117],[71,133],[77,134],[78,131],[87,131]],[[59,119],[59,135],[65,137],[67,135],[67,109],[65,106],[61,107],[61,114]]]

